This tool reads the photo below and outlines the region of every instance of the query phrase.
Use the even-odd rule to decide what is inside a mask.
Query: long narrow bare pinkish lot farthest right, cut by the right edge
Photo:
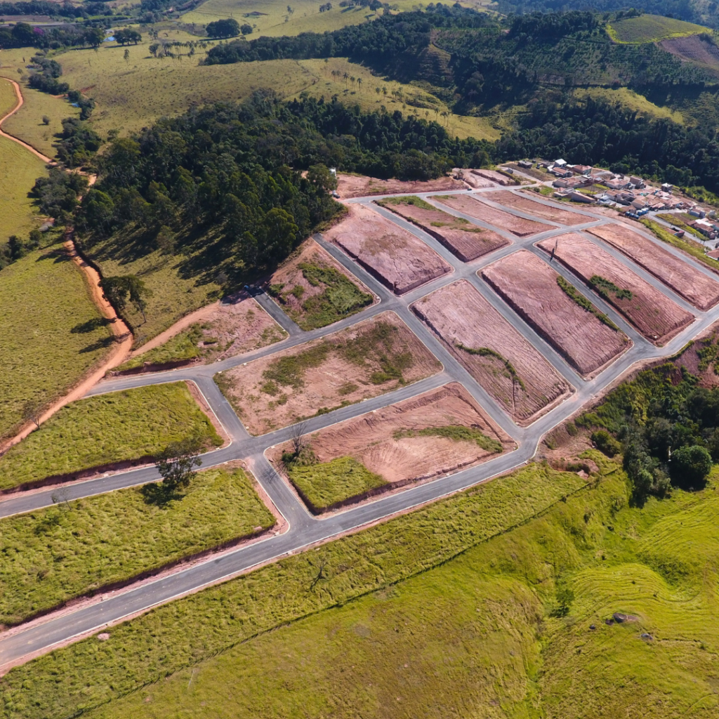
[[[700,310],[707,310],[719,302],[719,282],[682,262],[644,235],[618,224],[590,227],[587,232],[616,247]]]

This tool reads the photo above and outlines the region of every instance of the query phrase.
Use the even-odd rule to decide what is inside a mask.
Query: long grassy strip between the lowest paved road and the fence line
[[[396,582],[436,567],[555,503],[566,506],[562,498],[586,487],[575,474],[531,464],[316,551],[286,557],[111,628],[108,641],[90,638],[12,669],[0,679],[5,715],[46,719],[99,707],[323,608],[383,588],[392,592]],[[551,541],[546,546],[551,548]],[[554,566],[537,561],[542,567]],[[236,681],[237,674],[233,677]],[[473,677],[476,681],[477,675]],[[27,691],[31,684],[32,695]],[[152,692],[160,689],[157,685]],[[144,701],[145,696],[140,692],[129,700]],[[114,712],[114,707],[101,712]]]

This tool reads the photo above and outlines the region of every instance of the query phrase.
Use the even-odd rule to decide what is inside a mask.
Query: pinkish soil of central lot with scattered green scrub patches
[[[377,361],[375,353],[363,352],[364,361],[360,363],[357,359],[347,359],[342,354],[342,347],[359,336],[368,336],[378,326],[387,325],[393,328],[390,334],[391,353],[408,352],[412,357],[411,366],[402,372],[406,383],[416,382],[441,370],[434,355],[406,324],[395,313],[385,312],[323,339],[226,370],[221,373],[221,388],[252,434],[263,434],[287,426],[301,418],[314,416],[323,409],[326,411],[382,395],[398,388],[400,380],[388,379],[373,383],[372,375],[381,370],[381,363]],[[303,372],[301,383],[293,387],[278,382],[276,388],[272,385],[267,387],[267,377],[263,375],[268,368],[278,367],[278,362],[284,358],[296,357],[322,344],[329,345],[324,362],[317,367],[308,367]],[[285,364],[291,363],[285,360]]]

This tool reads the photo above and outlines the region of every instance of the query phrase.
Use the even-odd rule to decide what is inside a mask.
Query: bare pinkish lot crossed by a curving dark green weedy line
[[[530,423],[571,391],[467,280],[436,290],[412,308],[516,422]]]

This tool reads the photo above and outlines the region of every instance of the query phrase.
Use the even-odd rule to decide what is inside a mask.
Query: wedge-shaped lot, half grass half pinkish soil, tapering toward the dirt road
[[[219,362],[279,342],[285,336],[285,330],[254,299],[240,292],[175,323],[133,352],[113,374]]]

